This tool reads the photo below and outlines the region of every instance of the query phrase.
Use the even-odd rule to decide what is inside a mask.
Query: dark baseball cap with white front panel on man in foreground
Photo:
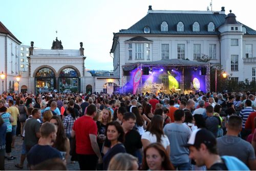
[[[208,146],[215,146],[217,144],[214,134],[206,129],[198,129],[191,133],[187,144],[183,145],[185,147],[196,146],[199,147],[201,143]]]

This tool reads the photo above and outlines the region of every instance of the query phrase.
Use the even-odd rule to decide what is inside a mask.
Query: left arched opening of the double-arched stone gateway
[[[50,68],[42,68],[35,75],[36,93],[51,92],[55,89],[55,74]]]

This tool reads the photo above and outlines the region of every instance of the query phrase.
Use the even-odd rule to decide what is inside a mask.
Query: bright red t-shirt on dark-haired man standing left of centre
[[[76,132],[76,153],[82,155],[95,155],[89,134],[97,136],[97,125],[95,121],[89,116],[82,116],[78,118],[73,126]]]

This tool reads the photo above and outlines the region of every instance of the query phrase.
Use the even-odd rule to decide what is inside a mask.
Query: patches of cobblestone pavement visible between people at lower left
[[[24,167],[23,169],[19,169],[15,167],[14,165],[19,163],[20,161],[20,154],[22,152],[22,143],[23,140],[21,137],[16,137],[16,142],[15,142],[15,148],[12,148],[12,156],[16,157],[14,160],[5,160],[5,170],[27,170],[27,160],[25,160]],[[38,154],[40,155],[40,154]],[[70,162],[70,157],[67,161],[67,168],[68,170],[80,170],[79,164],[71,164]]]

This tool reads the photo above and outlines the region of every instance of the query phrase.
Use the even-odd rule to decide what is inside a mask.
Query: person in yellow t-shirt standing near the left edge
[[[10,113],[12,118],[14,119],[14,121],[12,122],[12,148],[14,148],[19,111],[18,111],[18,108],[15,107],[13,100],[9,99],[8,104],[9,104],[8,113]]]

